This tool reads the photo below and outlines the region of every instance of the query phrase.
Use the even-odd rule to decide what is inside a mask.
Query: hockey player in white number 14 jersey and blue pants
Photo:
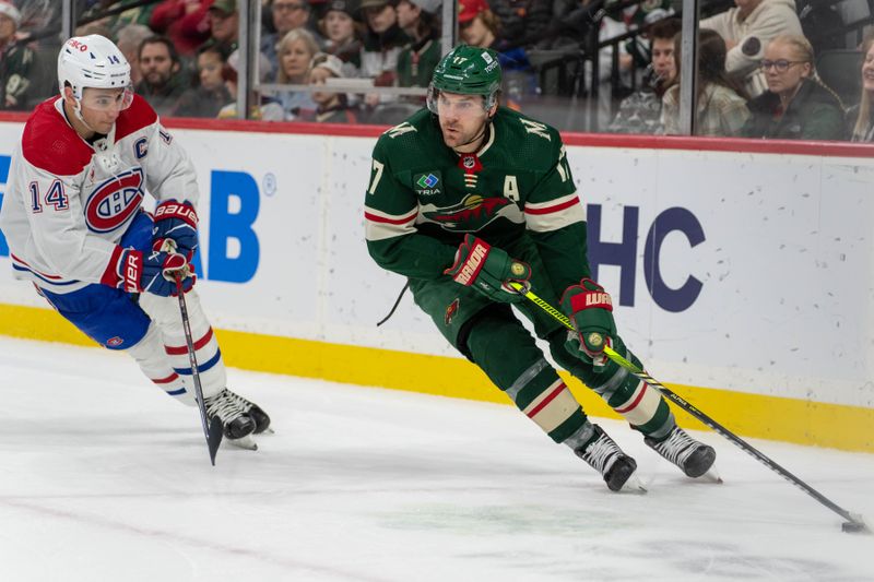
[[[0,211],[15,276],[94,341],[129,353],[164,392],[193,405],[174,298],[181,272],[208,415],[221,418],[232,441],[262,432],[270,417],[226,388],[218,343],[191,288],[198,185],[190,159],[133,94],[130,66],[110,40],[67,40],[58,83],[61,95],[27,120]],[[154,217],[141,207],[146,190],[157,200]]]

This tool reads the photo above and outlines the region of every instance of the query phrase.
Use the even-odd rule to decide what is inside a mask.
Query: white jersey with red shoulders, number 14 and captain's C
[[[15,276],[54,293],[113,284],[121,236],[146,191],[197,204],[191,162],[143,98],[94,145],[67,121],[60,97],[40,104],[12,156],[0,210]]]

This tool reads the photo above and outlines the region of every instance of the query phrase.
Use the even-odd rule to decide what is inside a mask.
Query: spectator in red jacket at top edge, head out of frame
[[[212,0],[164,0],[155,7],[149,26],[173,40],[176,51],[190,62],[210,39]]]

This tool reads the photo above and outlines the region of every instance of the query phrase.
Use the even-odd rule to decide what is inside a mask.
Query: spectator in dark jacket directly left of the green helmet
[[[426,87],[430,83],[434,68],[442,57],[439,15],[442,3],[442,0],[398,2],[398,25],[413,39],[398,56],[398,86]]]

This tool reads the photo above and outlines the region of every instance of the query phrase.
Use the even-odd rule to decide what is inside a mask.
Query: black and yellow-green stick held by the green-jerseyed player
[[[547,301],[534,295],[534,293],[532,293],[531,289],[516,282],[510,282],[509,285],[513,290],[516,290],[516,293],[518,293],[519,295],[523,295],[525,298],[530,299],[534,305],[546,311],[555,320],[562,322],[562,324],[564,324],[567,329],[569,330],[574,329],[574,326],[570,324],[570,320],[564,313],[562,313],[556,308],[551,306]],[[674,393],[671,389],[669,389],[668,387],[656,380],[653,377],[648,375],[645,370],[638,368],[637,366],[635,366],[634,364],[622,357],[615,349],[613,349],[610,346],[604,346],[604,354],[606,354],[606,356],[610,359],[612,359],[613,361],[615,361],[616,364],[618,364],[619,366],[631,372],[634,376],[636,376],[643,382],[648,383],[649,385],[661,392],[668,400],[670,400],[671,402],[673,402],[674,404],[676,404],[677,406],[689,413],[692,416],[694,416],[695,418],[697,418],[711,429],[719,432],[722,437],[729,439],[741,450],[752,455],[756,461],[760,462],[766,467],[770,468],[771,471],[783,477],[786,480],[788,480],[789,483],[791,483],[792,485],[794,485],[795,487],[798,487],[805,494],[810,495],[811,497],[819,501],[822,504],[824,504],[825,507],[827,507],[828,509],[830,509],[831,511],[834,511],[835,513],[847,520],[843,524],[841,524],[842,531],[864,532],[867,534],[871,533],[871,530],[869,530],[867,525],[865,525],[865,522],[862,520],[862,515],[859,515],[857,513],[850,513],[846,509],[832,502],[826,496],[824,496],[823,494],[820,494],[819,491],[817,491],[816,489],[814,489],[813,487],[811,487],[810,485],[807,485],[806,483],[794,476],[789,471],[781,467],[779,464],[777,464],[775,461],[768,458],[765,453],[758,451],[755,447],[753,447],[752,444],[749,444],[748,442],[736,436],[734,432],[732,432],[728,428],[723,427],[722,425],[720,425],[719,423],[717,423],[716,420],[704,414],[701,411],[696,408],[690,403],[686,402],[684,399]]]

